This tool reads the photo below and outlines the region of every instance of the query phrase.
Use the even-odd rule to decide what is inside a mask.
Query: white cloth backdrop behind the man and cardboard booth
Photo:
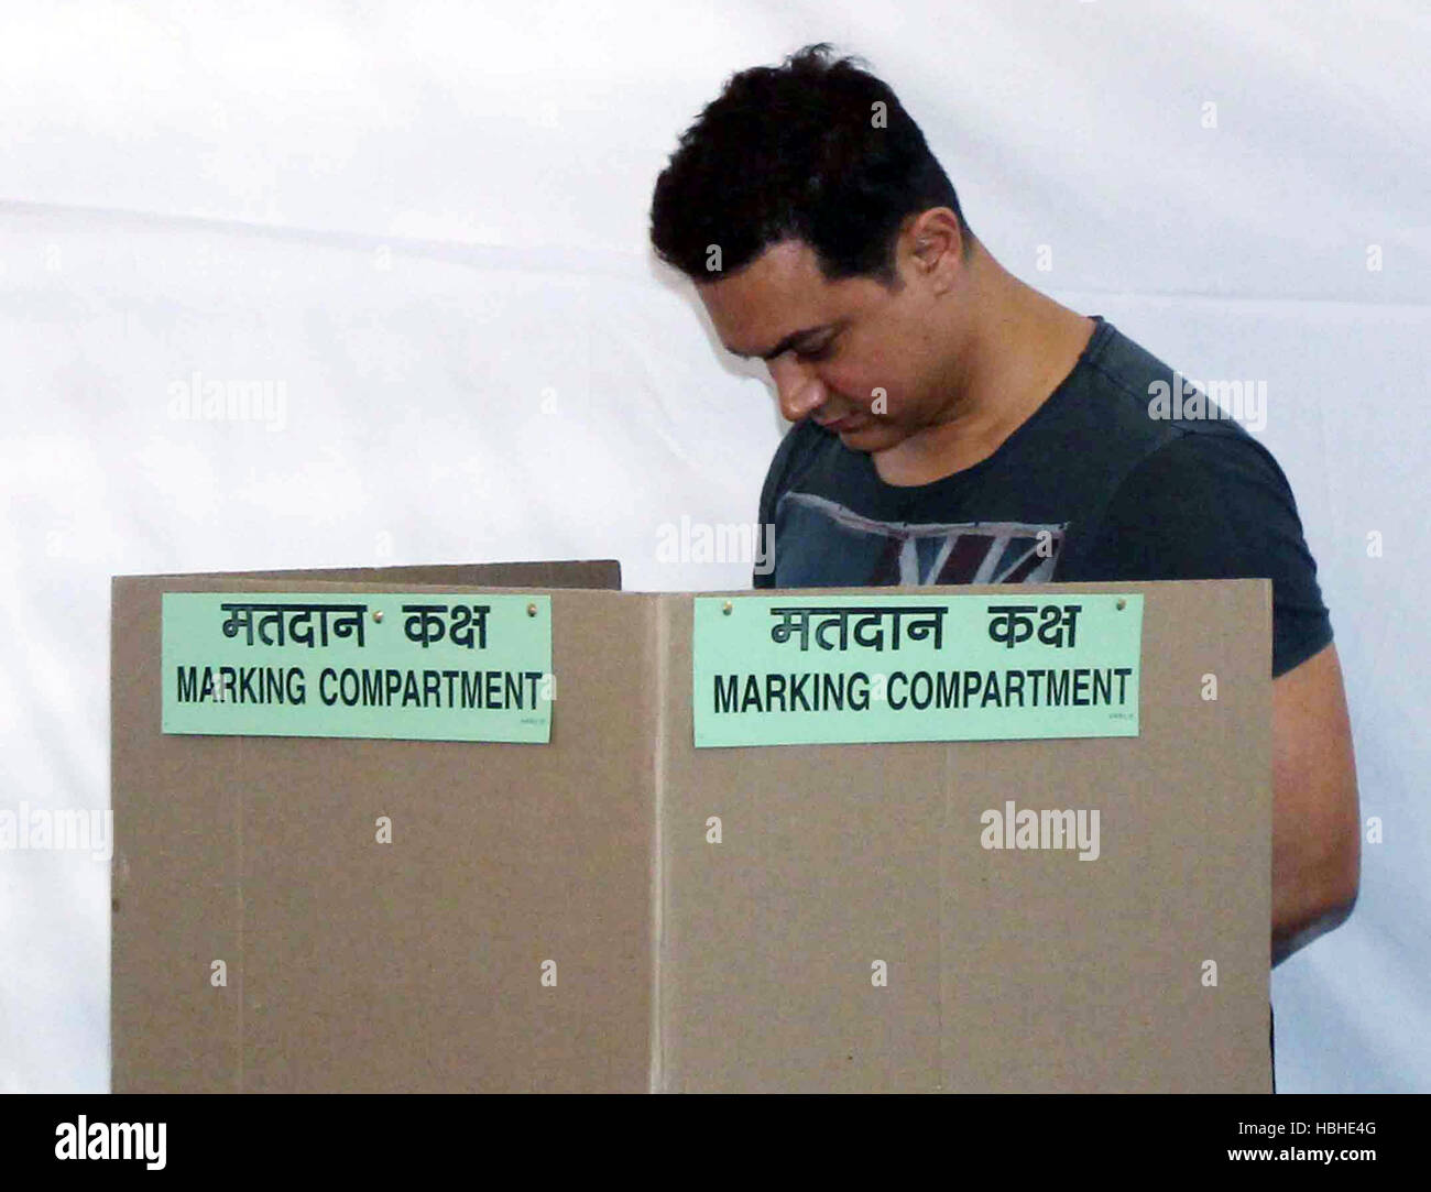
[[[824,39],[1009,269],[1188,376],[1266,382],[1384,833],[1349,923],[1274,974],[1278,1088],[1431,1089],[1424,6],[0,11],[0,810],[107,807],[113,574],[617,557],[628,588],[747,585],[661,527],[753,522],[784,424],[645,218],[724,79]],[[213,381],[272,404],[176,416]],[[109,1088],[107,924],[107,863],[0,851],[0,1090]]]

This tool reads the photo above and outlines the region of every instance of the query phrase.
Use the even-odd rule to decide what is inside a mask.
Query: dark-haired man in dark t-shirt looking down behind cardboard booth
[[[894,93],[826,44],[727,83],[657,180],[651,239],[796,422],[757,587],[1269,577],[1272,963],[1351,913],[1331,620],[1252,435],[1171,416],[1172,369],[1007,273]]]

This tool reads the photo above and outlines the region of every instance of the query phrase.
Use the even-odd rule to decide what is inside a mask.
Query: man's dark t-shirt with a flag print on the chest
[[[757,588],[1272,581],[1272,675],[1332,640],[1292,489],[1231,418],[1153,418],[1173,371],[1100,315],[1073,371],[987,459],[930,484],[804,419],[760,497],[774,568]],[[1215,411],[1215,406],[1209,408]]]

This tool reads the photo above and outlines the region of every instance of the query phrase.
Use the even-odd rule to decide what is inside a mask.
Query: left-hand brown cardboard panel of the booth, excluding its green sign
[[[552,592],[550,746],[162,736],[160,592],[272,587],[114,581],[114,1090],[645,1090],[653,607]]]

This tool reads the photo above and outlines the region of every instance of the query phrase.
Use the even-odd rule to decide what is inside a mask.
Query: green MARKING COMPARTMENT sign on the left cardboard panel
[[[551,597],[165,592],[163,731],[551,740]]]

